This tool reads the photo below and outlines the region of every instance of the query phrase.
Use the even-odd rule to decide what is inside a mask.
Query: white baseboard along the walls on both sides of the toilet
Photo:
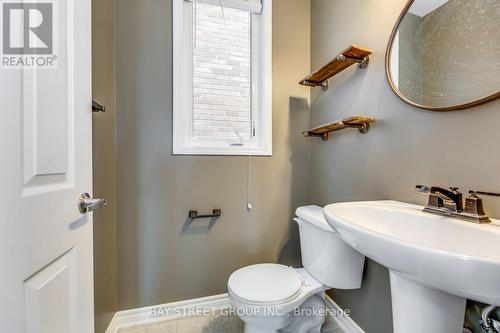
[[[325,295],[326,306],[332,313],[340,313],[341,308]],[[173,309],[189,308],[226,308],[229,307],[227,294],[210,297],[197,298],[187,301],[168,303],[162,305],[148,306],[144,308],[119,311],[115,314],[109,324],[106,333],[117,333],[119,329],[155,323],[158,321],[179,318],[178,311],[168,311]],[[152,316],[157,309],[161,309],[166,315]],[[336,325],[340,328],[339,333],[365,333],[349,316],[332,316]]]

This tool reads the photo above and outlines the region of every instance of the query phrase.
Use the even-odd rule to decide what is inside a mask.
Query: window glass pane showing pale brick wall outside
[[[251,137],[250,13],[195,3],[193,137]],[[238,133],[238,134],[236,134]]]

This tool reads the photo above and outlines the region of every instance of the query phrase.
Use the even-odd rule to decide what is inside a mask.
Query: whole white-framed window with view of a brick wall
[[[271,0],[173,9],[173,153],[271,155]]]

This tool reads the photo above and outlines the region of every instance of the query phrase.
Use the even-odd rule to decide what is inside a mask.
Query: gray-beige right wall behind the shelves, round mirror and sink
[[[311,67],[320,67],[351,43],[374,49],[365,72],[352,68],[330,89],[311,94],[312,123],[353,114],[378,122],[367,135],[345,130],[330,141],[313,140],[312,202],[395,199],[424,204],[415,184],[456,185],[498,192],[500,101],[451,113],[418,110],[391,91],[384,72],[385,47],[406,0],[311,1]],[[500,217],[500,204],[485,207]],[[446,237],[446,235],[443,235]],[[336,291],[368,333],[391,332],[388,273],[368,263],[363,288]]]

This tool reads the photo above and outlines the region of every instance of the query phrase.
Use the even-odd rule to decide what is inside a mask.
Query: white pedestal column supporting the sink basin
[[[466,299],[390,271],[394,333],[461,333]]]

